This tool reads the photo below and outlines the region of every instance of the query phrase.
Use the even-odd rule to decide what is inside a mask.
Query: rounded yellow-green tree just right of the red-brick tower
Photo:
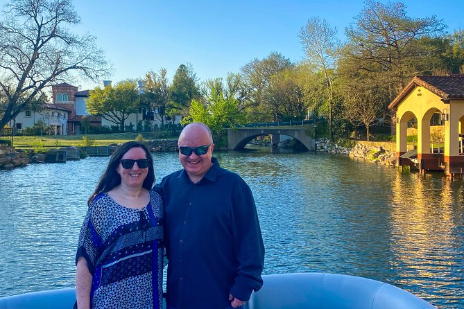
[[[125,130],[124,123],[130,114],[137,112],[140,97],[136,82],[126,80],[89,91],[87,109],[92,115],[100,115]]]

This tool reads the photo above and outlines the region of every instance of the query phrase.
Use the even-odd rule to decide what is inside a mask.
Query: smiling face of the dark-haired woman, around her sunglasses
[[[134,147],[130,148],[130,150],[128,150],[128,152],[126,152],[123,155],[121,161],[139,159],[147,160],[145,150],[140,147]],[[128,167],[130,166],[130,164],[132,164],[132,162],[125,161],[124,164],[126,164],[126,167]],[[141,188],[141,186],[144,184],[146,175],[148,175],[148,166],[144,168],[144,164],[140,164],[142,167],[140,167],[139,164],[137,164],[137,162],[133,162],[133,165],[130,168],[124,168],[123,164],[119,162],[117,172],[119,173],[119,175],[121,175],[121,184],[123,186]],[[150,163],[148,162],[148,164]]]

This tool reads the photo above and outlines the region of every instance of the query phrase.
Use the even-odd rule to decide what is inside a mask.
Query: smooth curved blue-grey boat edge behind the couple
[[[381,281],[328,273],[269,274],[243,309],[436,309],[424,299]],[[0,298],[0,309],[73,308],[74,288]]]

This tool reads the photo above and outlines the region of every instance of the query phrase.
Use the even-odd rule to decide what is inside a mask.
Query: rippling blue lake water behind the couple
[[[252,188],[264,274],[334,272],[464,308],[464,183],[309,152],[215,152]],[[157,182],[180,168],[153,154]],[[0,171],[0,297],[74,286],[86,201],[108,158]]]

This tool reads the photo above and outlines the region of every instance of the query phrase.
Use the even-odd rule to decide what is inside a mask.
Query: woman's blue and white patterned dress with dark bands
[[[92,274],[90,308],[162,308],[162,199],[150,192],[144,209],[117,204],[107,193],[90,204],[80,230],[76,264]]]

